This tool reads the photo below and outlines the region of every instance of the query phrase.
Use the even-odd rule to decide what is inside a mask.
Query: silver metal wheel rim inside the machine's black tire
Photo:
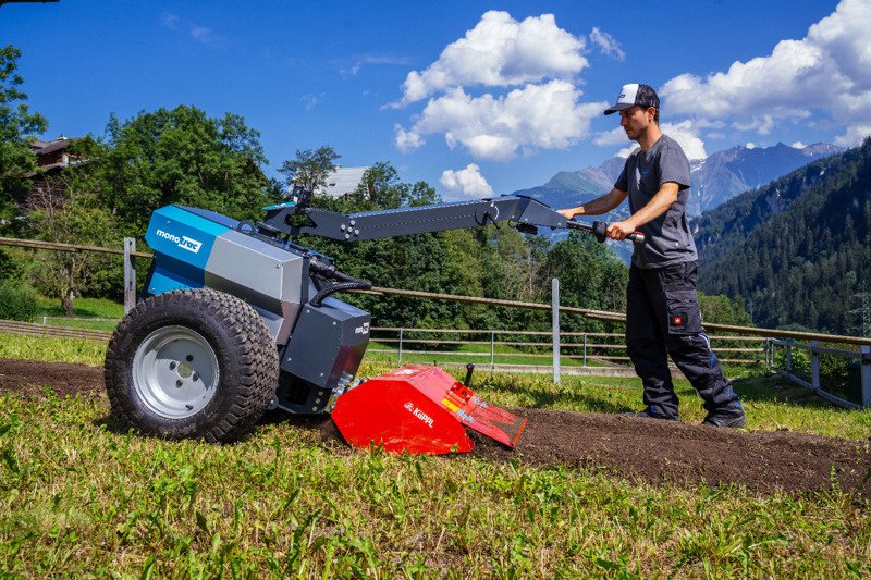
[[[133,357],[133,385],[149,410],[167,419],[193,417],[218,390],[218,357],[211,345],[185,326],[149,334]]]

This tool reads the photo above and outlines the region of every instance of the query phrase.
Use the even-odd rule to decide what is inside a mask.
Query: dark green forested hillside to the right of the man
[[[700,288],[743,297],[763,326],[860,334],[871,280],[871,139],[701,218]]]

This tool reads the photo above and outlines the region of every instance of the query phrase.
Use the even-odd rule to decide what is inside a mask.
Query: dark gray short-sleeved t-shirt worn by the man
[[[666,182],[678,184],[677,201],[665,213],[639,229],[647,242],[635,247],[633,263],[638,268],[662,268],[698,260],[686,217],[689,161],[677,141],[663,135],[647,151],[640,148],[633,151],[614,187],[629,193],[629,211],[635,213]]]

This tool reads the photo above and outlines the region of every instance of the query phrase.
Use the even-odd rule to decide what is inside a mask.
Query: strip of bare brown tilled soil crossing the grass
[[[101,392],[102,369],[0,359],[0,393]],[[516,449],[473,433],[474,455],[494,461],[565,465],[685,485],[744,484],[770,493],[829,489],[871,497],[871,439],[847,441],[789,431],[745,432],[617,415],[513,409],[529,417]],[[291,419],[294,420],[294,419]],[[300,421],[324,441],[341,440],[332,421]]]

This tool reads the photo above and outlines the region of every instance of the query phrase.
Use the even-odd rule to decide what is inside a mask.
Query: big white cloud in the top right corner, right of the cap
[[[735,62],[704,78],[682,74],[660,95],[670,112],[727,120],[760,135],[819,110],[845,127],[841,144],[855,145],[871,126],[869,21],[871,2],[843,0],[805,38],[782,40],[766,57]]]

